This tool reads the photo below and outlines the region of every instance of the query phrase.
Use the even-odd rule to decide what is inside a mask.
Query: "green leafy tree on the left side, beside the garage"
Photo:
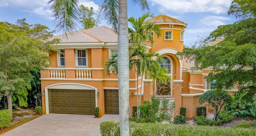
[[[49,66],[50,57],[46,53],[56,48],[50,46],[58,42],[49,28],[40,24],[29,25],[25,19],[16,24],[0,22],[0,94],[7,96],[8,108],[12,109],[12,94],[24,94],[31,88],[33,75],[30,71]]]

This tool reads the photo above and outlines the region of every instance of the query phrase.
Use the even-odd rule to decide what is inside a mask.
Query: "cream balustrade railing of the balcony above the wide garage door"
[[[50,70],[51,79],[66,79],[66,70],[74,70],[76,79],[92,79],[92,70],[103,68],[46,68]]]

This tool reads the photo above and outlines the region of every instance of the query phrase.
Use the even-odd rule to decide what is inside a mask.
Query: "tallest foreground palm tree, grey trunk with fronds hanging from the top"
[[[144,10],[148,9],[147,0],[132,0]],[[58,30],[65,33],[73,31],[79,21],[78,0],[50,0],[52,3],[55,21]],[[127,0],[104,0],[102,5],[103,14],[114,30],[118,32],[118,88],[120,110],[120,135],[129,135],[129,41],[128,41],[128,16]],[[117,27],[118,26],[118,27]]]

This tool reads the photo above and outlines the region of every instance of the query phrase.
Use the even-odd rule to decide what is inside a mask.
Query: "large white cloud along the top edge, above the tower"
[[[231,0],[149,0],[152,5],[160,5],[159,11],[166,10],[180,13],[212,12],[214,14],[226,13]]]

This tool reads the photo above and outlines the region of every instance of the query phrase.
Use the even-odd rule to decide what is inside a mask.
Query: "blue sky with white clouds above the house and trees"
[[[0,22],[14,24],[18,19],[26,18],[28,24],[42,24],[55,30],[54,17],[48,5],[49,0],[0,0]],[[128,18],[138,18],[143,13],[140,6],[128,1]],[[79,0],[79,4],[93,7],[97,12],[103,0]],[[234,16],[227,12],[231,0],[148,0],[150,13],[154,16],[164,14],[188,24],[184,32],[184,45],[193,45],[198,36],[208,36],[219,25],[233,24]],[[149,18],[148,18],[149,19]],[[81,26],[78,24],[78,26]],[[100,26],[108,26],[105,20]],[[111,26],[108,26],[111,27]],[[81,27],[80,27],[81,28]],[[56,33],[55,35],[58,35]]]

